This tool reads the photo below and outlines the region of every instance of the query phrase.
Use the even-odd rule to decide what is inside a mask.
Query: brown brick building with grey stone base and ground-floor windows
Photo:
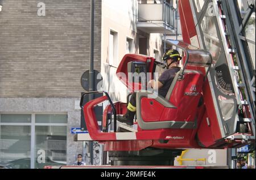
[[[82,142],[82,73],[89,69],[90,1],[1,0],[0,164],[14,168],[73,164]],[[45,10],[45,11],[44,11]],[[94,35],[101,36],[101,2],[95,1]],[[101,68],[101,40],[94,40]]]

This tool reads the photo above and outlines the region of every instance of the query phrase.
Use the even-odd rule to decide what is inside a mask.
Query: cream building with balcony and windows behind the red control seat
[[[125,102],[128,95],[125,85],[115,76],[125,54],[145,54],[162,61],[163,35],[176,35],[172,3],[102,0],[101,74],[103,89],[110,93],[114,101]]]

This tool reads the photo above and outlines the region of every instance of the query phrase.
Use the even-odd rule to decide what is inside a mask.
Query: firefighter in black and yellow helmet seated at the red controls
[[[148,85],[151,86],[153,89],[158,89],[158,94],[160,96],[166,97],[168,89],[176,72],[180,70],[179,61],[181,60],[181,56],[179,52],[175,49],[168,50],[163,55],[163,61],[166,63],[167,70],[160,75],[158,82],[154,83],[154,80],[150,80]],[[124,122],[127,125],[133,125],[134,115],[136,113],[136,93],[134,92],[131,95],[129,104],[127,106],[127,112],[124,115],[118,115],[117,121]]]

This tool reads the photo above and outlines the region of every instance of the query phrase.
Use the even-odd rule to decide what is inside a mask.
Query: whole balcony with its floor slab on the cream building
[[[137,28],[146,33],[176,35],[176,8],[166,1],[138,1]]]

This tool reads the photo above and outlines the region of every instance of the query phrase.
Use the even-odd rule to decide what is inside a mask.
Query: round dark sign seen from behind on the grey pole
[[[94,87],[93,87],[93,91],[97,91],[97,84],[102,80],[102,76],[100,74],[100,72],[98,72],[97,70],[93,70],[94,75]],[[97,79],[98,77],[98,79]],[[85,71],[84,74],[82,74],[81,76],[81,85],[82,88],[84,88],[85,91],[89,91],[89,70]]]

